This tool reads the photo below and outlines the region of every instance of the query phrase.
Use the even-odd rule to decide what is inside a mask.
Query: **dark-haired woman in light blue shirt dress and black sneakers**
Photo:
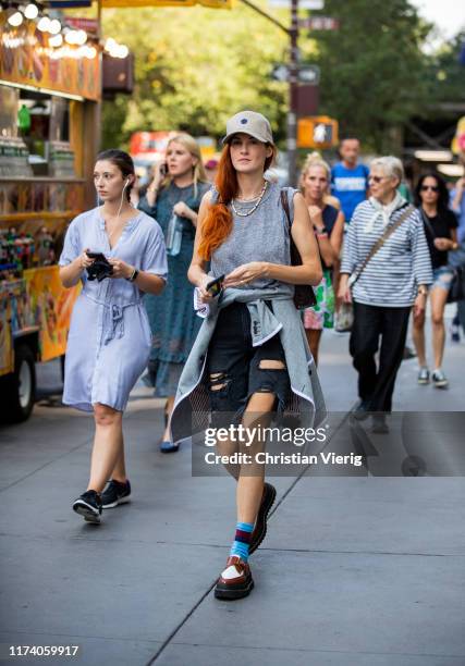
[[[63,285],[81,281],[83,287],[68,338],[63,403],[94,412],[89,484],[73,504],[88,522],[100,522],[102,508],[127,502],[131,494],[122,417],[150,353],[143,295],[159,294],[168,272],[160,226],[130,203],[134,177],[134,164],[125,152],[107,150],[98,156],[94,180],[103,205],[71,222],[60,258]],[[110,276],[90,279],[95,258],[89,252],[107,258]]]

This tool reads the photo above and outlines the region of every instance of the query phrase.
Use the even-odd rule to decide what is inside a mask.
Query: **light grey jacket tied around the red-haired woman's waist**
[[[271,309],[267,307],[266,300],[270,301]],[[254,347],[262,345],[274,335],[280,336],[291,382],[284,414],[297,414],[302,428],[317,428],[326,419],[325,398],[315,361],[299,312],[286,286],[283,284],[271,288],[249,289],[229,287],[209,303],[208,317],[204,319],[181,374],[171,417],[174,443],[209,427],[210,399],[205,372],[208,345],[220,310],[234,301],[245,303],[248,308]]]

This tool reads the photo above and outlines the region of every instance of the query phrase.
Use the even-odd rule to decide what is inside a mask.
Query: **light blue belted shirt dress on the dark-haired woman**
[[[167,279],[163,234],[142,211],[127,222],[112,249],[98,208],[77,215],[68,229],[59,264],[68,266],[85,249]],[[124,411],[150,354],[144,294],[124,279],[89,281],[86,271],[82,284],[68,337],[63,403],[84,411],[93,411],[96,403]]]

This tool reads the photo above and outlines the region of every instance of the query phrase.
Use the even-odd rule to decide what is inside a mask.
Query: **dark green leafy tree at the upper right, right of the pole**
[[[392,127],[418,115],[428,99],[423,46],[431,26],[407,0],[326,0],[325,14],[341,25],[317,36],[321,111],[366,148],[393,149]]]

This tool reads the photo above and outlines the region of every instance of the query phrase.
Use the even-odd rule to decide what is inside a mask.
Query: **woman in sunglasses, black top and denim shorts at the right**
[[[449,381],[442,371],[445,328],[444,308],[451,288],[453,271],[448,267],[448,252],[458,247],[458,226],[455,213],[449,209],[449,193],[443,178],[437,173],[424,174],[415,189],[431,257],[433,283],[430,289],[432,351],[435,370],[431,380],[437,388],[446,388]],[[430,381],[425,348],[425,312],[414,317],[413,338],[418,356],[418,384]]]

